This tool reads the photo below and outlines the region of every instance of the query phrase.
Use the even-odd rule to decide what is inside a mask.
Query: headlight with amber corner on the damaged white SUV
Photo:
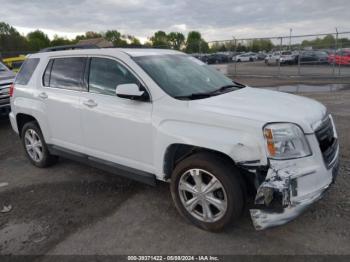
[[[273,159],[292,159],[311,155],[303,131],[295,124],[268,124],[264,127],[267,152]]]

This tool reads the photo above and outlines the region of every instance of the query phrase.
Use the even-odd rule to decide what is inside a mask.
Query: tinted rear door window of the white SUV
[[[44,85],[77,91],[86,90],[84,86],[86,61],[87,59],[84,57],[53,59],[45,70]]]

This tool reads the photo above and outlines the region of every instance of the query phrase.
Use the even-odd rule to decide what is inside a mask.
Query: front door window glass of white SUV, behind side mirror
[[[139,85],[137,78],[117,61],[108,58],[91,58],[89,92],[115,95],[118,85],[132,83]]]

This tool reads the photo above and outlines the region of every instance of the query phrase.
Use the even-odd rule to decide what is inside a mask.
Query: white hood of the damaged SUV
[[[198,110],[246,118],[261,122],[291,122],[312,133],[312,126],[326,114],[321,103],[288,93],[245,87],[237,91],[193,100],[190,106]]]

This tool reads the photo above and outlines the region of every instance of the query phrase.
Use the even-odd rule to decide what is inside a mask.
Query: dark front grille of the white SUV
[[[317,141],[323,155],[323,159],[328,168],[331,167],[338,149],[338,141],[334,136],[333,124],[329,116],[327,116],[315,131]]]

